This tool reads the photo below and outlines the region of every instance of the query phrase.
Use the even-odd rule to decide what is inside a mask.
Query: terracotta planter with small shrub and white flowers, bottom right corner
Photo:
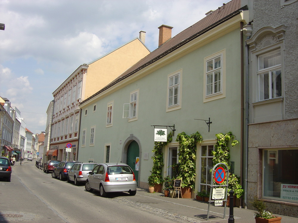
[[[281,217],[274,216],[269,211],[266,211],[266,204],[262,199],[258,199],[257,197],[254,197],[254,201],[251,202],[252,206],[257,209],[255,212],[255,219],[256,223],[280,223]]]

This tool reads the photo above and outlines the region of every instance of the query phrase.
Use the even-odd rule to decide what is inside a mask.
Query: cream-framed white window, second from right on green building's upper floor
[[[175,77],[178,77],[178,82],[175,83]],[[172,81],[173,80],[173,81]],[[170,101],[174,102],[174,92],[177,89],[176,94],[176,104],[172,103],[169,105]],[[166,112],[181,109],[181,99],[182,99],[182,69],[177,70],[167,76],[167,105]]]

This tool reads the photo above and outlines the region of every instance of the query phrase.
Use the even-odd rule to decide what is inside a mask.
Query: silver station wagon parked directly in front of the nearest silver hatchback
[[[85,183],[89,172],[96,166],[98,163],[76,163],[70,168],[67,172],[67,182],[74,181],[75,185],[79,183]]]

